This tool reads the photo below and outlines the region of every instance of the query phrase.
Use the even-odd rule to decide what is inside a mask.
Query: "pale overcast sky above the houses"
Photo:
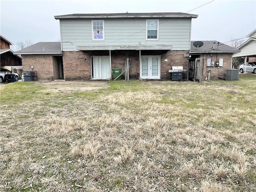
[[[197,14],[198,18],[192,19],[191,40],[227,42],[231,38],[245,37],[256,28],[255,0],[211,1],[0,0],[0,34],[14,44],[26,40],[33,43],[60,41],[60,24],[54,16],[74,13],[184,12]],[[11,48],[18,50],[16,45]]]

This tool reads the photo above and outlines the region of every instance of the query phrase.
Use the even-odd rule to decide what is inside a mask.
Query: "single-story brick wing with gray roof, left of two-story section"
[[[38,80],[63,79],[60,42],[38,42],[14,54],[22,55],[23,71],[36,71]]]

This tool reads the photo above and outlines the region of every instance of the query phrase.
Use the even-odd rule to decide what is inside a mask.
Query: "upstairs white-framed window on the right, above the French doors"
[[[146,20],[146,40],[158,40],[159,20]]]

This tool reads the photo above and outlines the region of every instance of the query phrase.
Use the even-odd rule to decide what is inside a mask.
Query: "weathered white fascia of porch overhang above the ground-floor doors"
[[[89,50],[172,50],[172,45],[120,45],[120,46],[76,46],[78,51]]]

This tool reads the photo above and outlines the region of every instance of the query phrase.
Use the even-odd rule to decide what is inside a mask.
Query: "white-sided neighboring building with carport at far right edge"
[[[244,57],[245,62],[256,62],[256,29],[246,37],[249,39],[238,47],[241,52],[234,53],[232,57]]]

